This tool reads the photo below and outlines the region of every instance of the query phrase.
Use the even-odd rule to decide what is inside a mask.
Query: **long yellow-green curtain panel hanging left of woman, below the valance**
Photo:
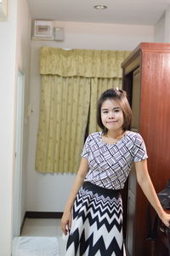
[[[90,79],[42,76],[38,172],[77,172],[89,101]]]

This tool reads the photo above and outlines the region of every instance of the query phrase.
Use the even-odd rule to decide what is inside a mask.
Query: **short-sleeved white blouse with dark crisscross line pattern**
[[[123,189],[133,162],[146,159],[143,138],[137,132],[127,133],[117,143],[102,141],[102,132],[90,134],[82,151],[88,159],[85,181],[106,189]]]

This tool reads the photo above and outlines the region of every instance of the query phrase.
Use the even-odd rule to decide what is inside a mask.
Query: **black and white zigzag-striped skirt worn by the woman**
[[[122,197],[84,183],[72,209],[66,256],[122,256]]]

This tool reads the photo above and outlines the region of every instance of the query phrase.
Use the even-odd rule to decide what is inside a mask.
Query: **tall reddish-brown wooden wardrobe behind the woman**
[[[170,44],[141,43],[122,62],[122,88],[133,109],[132,131],[144,138],[148,169],[156,192],[170,178]],[[127,188],[126,247],[130,256],[156,255],[147,240],[149,205],[133,168]]]

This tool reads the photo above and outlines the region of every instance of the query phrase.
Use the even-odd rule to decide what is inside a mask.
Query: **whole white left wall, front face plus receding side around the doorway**
[[[8,0],[8,20],[0,22],[0,255],[11,255],[13,234],[14,152],[16,122],[16,79],[18,69],[26,75],[28,93],[31,17],[26,0]],[[26,102],[28,102],[26,96]],[[25,131],[28,137],[28,129]],[[26,141],[24,169],[26,180]],[[26,181],[25,181],[26,186]],[[24,188],[24,183],[23,183]],[[26,211],[26,188],[23,189],[22,214]]]

